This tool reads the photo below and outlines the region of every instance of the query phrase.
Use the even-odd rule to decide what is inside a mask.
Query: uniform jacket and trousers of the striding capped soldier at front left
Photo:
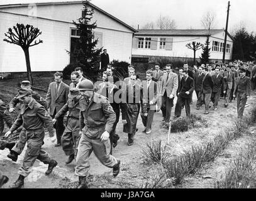
[[[36,159],[45,164],[49,164],[51,161],[48,153],[41,148],[45,137],[43,126],[45,125],[48,129],[50,137],[53,137],[55,132],[51,117],[46,115],[45,108],[35,99],[32,99],[28,106],[21,105],[21,112],[9,131],[15,131],[21,124],[26,134],[28,148],[26,149],[23,166],[19,168],[18,173],[27,177]]]

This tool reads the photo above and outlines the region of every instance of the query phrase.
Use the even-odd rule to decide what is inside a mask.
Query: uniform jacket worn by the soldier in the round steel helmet
[[[114,112],[109,101],[103,95],[94,92],[89,104],[86,98],[79,100],[80,130],[89,138],[99,139],[104,131],[110,133],[116,121]]]

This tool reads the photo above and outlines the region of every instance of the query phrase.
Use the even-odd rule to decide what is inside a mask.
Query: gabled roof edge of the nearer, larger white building
[[[48,6],[48,5],[63,5],[63,4],[82,4],[83,1],[65,1],[65,2],[48,2],[48,3],[35,3],[36,6]],[[120,19],[114,17],[113,15],[107,13],[106,11],[103,11],[103,9],[95,6],[94,4],[88,2],[89,5],[96,9],[97,11],[106,14],[107,16],[109,16],[109,18],[114,19],[114,21],[117,21],[120,24],[123,24],[124,26],[126,26],[126,28],[130,29],[133,32],[136,32],[137,30],[135,30],[134,28],[132,28],[131,26],[129,26],[128,24],[124,23],[123,21],[121,21]],[[27,7],[31,5],[31,3],[23,3],[23,4],[4,4],[4,5],[0,5],[0,9],[1,8],[16,8],[16,7]]]

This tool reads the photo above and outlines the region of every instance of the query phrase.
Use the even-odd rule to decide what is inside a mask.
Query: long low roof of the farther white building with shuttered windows
[[[216,35],[217,33],[221,33],[225,30],[138,30],[137,33],[135,33],[135,36],[139,35],[159,35],[159,36],[208,36],[208,35]],[[230,33],[228,33],[228,36],[232,39],[232,36]],[[233,39],[232,39],[233,40]]]

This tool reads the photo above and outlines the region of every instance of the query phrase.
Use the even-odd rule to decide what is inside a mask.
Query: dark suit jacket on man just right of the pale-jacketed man
[[[190,95],[194,90],[194,80],[192,79],[192,77],[187,77],[187,80],[185,79],[186,77],[182,77],[181,85],[177,91],[179,92],[180,97],[183,97],[184,99],[190,99]],[[185,93],[187,91],[189,92],[189,94]]]

